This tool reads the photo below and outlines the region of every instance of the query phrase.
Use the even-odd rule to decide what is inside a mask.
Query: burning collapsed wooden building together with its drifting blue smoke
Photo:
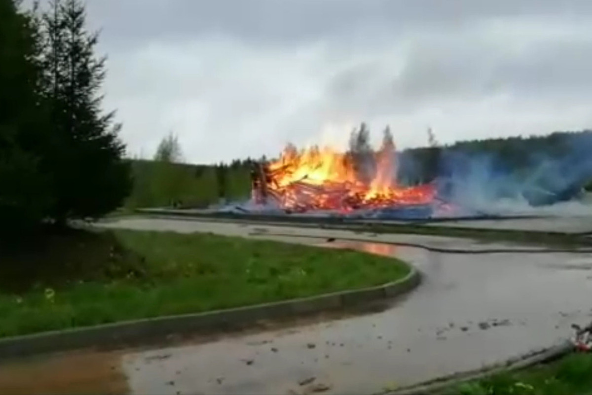
[[[495,153],[439,147],[431,130],[430,146],[417,158],[397,152],[388,128],[378,150],[369,145],[368,134],[362,124],[348,150],[299,150],[289,144],[279,158],[255,163],[252,201],[287,213],[330,211],[376,219],[497,217],[506,213],[494,207],[497,203],[522,212],[572,200],[592,174],[592,161],[581,156],[547,158],[521,170],[508,168]],[[518,178],[518,170],[527,176]]]

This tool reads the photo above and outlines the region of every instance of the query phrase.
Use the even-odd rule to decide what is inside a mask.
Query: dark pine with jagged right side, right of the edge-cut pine
[[[44,95],[52,120],[48,158],[58,223],[100,217],[131,190],[121,124],[114,123],[114,112],[102,112],[106,57],[95,56],[98,33],[85,25],[79,0],[53,0],[43,14]]]

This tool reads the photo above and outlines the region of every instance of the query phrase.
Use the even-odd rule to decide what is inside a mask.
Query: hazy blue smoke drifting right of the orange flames
[[[487,207],[501,199],[548,205],[574,198],[592,178],[592,132],[510,140],[504,152],[442,150],[439,194],[445,200]],[[507,152],[510,152],[508,154]]]

